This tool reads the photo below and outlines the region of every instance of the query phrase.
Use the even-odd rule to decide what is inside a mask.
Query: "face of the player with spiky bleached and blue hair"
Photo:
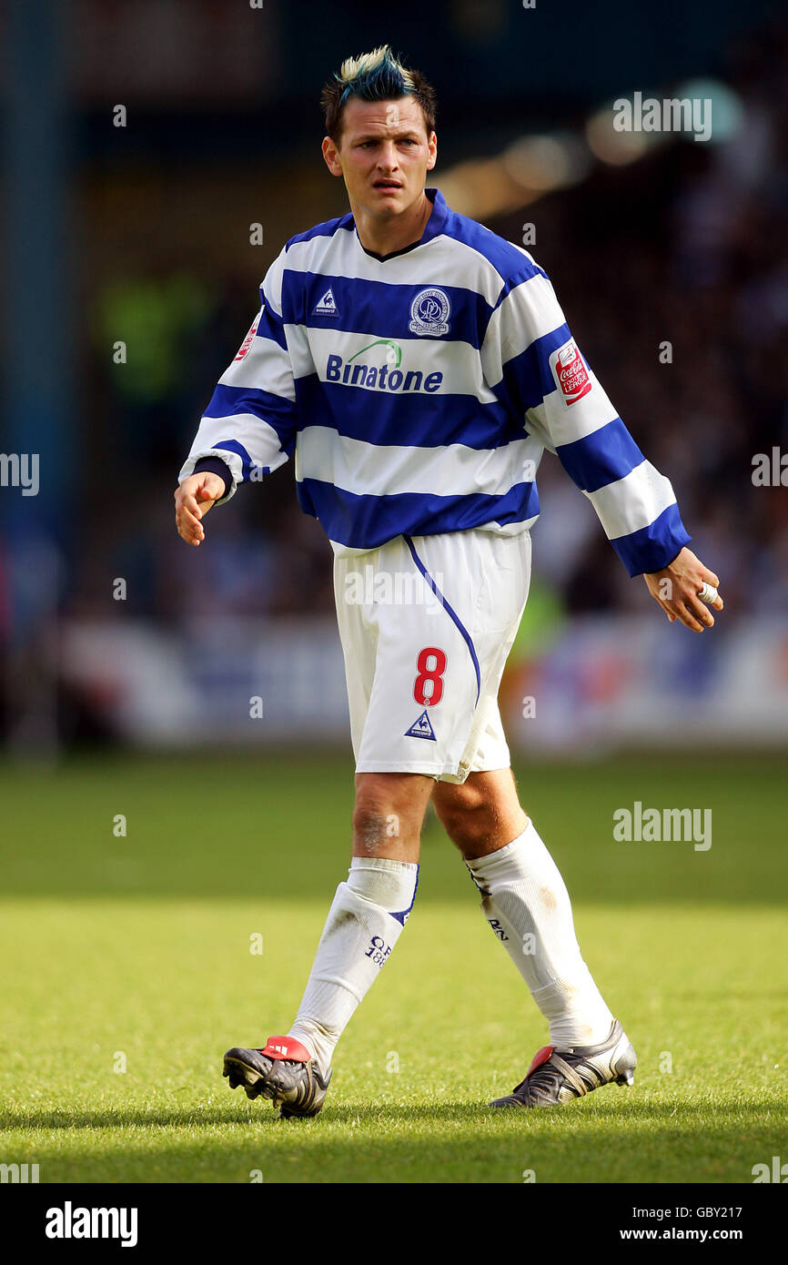
[[[342,115],[339,147],[330,138],[324,154],[342,175],[350,205],[374,216],[402,214],[421,197],[435,166],[435,133],[428,135],[421,106],[411,97],[362,101],[352,97]]]

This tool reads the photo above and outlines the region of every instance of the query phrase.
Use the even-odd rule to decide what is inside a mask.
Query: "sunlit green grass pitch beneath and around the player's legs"
[[[787,1159],[782,765],[519,773],[584,956],[637,1049],[634,1089],[486,1108],[546,1030],[433,825],[414,915],[338,1049],[323,1114],[278,1121],[228,1089],[221,1052],[295,1015],[345,874],[349,762],[4,767],[0,1161],[38,1163],[52,1183],[248,1183],[254,1170],[267,1183],[520,1183],[524,1170],[749,1183],[754,1164]],[[613,842],[612,812],[634,799],[711,807],[712,848]]]

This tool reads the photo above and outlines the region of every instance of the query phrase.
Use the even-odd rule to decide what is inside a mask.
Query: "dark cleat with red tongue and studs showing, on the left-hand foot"
[[[262,1050],[233,1046],[224,1056],[223,1077],[230,1089],[243,1085],[247,1098],[269,1098],[280,1118],[316,1116],[323,1108],[331,1079],[323,1077],[306,1046],[291,1036],[269,1036]]]

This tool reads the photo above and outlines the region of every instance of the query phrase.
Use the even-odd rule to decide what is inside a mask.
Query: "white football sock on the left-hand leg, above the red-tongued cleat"
[[[353,856],[336,888],[309,983],[288,1036],[328,1071],[348,1020],[377,979],[416,899],[419,867]]]

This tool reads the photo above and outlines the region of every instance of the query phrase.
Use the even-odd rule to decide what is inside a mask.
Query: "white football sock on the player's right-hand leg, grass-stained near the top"
[[[550,1045],[596,1045],[613,1016],[581,956],[572,904],[533,821],[506,848],[465,861],[482,911],[549,1021]]]

